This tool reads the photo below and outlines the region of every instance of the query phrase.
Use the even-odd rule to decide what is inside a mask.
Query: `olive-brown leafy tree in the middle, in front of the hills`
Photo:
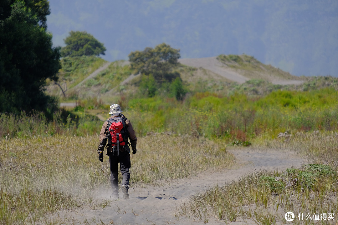
[[[158,83],[172,81],[179,76],[178,73],[172,73],[173,68],[178,64],[179,49],[173,49],[165,43],[154,49],[147,47],[142,52],[131,52],[128,57],[131,69],[134,69],[135,73],[152,74]]]

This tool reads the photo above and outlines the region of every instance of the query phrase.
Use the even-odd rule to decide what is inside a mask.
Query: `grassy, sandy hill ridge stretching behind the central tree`
[[[194,62],[195,60],[195,62]],[[212,92],[222,96],[234,93],[250,96],[262,96],[276,90],[308,91],[323,87],[337,88],[337,79],[333,77],[296,77],[271,65],[265,65],[248,55],[219,55],[215,60],[219,64],[214,65],[223,69],[215,73],[211,66],[200,66],[200,59],[190,59],[192,65],[183,63],[174,68],[180,74],[187,96],[197,92]],[[133,76],[127,61],[112,62],[97,76],[79,83],[93,73],[96,69],[107,63],[98,57],[66,57],[61,60],[62,68],[59,71],[59,85],[65,91],[63,96],[61,88],[51,81],[47,81],[46,92],[56,96],[61,102],[100,101],[101,105],[110,105],[111,102],[122,102],[137,97],[146,97],[140,88],[142,79]],[[190,62],[191,64],[191,62]],[[210,63],[212,64],[212,63]],[[243,83],[234,82],[232,77],[222,76],[221,73],[232,73],[232,76],[245,77]],[[284,85],[285,83],[285,85]],[[158,95],[169,96],[168,90],[158,90]],[[127,105],[125,105],[127,106]],[[85,107],[85,106],[84,106]],[[91,107],[93,108],[93,107]],[[98,107],[94,107],[98,108]]]

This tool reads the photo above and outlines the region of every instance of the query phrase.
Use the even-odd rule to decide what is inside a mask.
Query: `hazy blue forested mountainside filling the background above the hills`
[[[338,76],[337,1],[51,0],[50,10],[54,45],[87,31],[108,61],[164,42],[181,58],[245,53],[297,76]]]

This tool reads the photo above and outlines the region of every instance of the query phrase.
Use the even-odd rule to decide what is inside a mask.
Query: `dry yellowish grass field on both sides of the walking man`
[[[98,137],[53,136],[0,141],[0,224],[35,223],[48,212],[81,204],[104,208],[92,194],[109,190],[108,158],[97,157]],[[194,176],[233,164],[219,144],[176,135],[138,139],[131,185]],[[206,166],[208,165],[208,166]],[[99,204],[99,206],[98,206]]]

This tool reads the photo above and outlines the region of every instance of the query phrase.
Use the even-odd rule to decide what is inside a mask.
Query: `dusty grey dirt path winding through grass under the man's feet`
[[[247,173],[256,170],[285,170],[288,167],[300,167],[307,163],[289,151],[262,152],[253,147],[230,151],[241,166],[217,173],[204,173],[191,179],[179,179],[172,182],[161,182],[157,186],[137,186],[129,189],[130,199],[112,201],[110,206],[103,209],[93,209],[82,206],[75,210],[62,210],[51,218],[61,220],[65,224],[204,224],[185,217],[174,216],[177,208],[187,202],[196,193],[204,191],[216,183],[223,185]],[[134,156],[137,157],[137,154]],[[110,191],[97,193],[96,201],[110,198]],[[120,193],[122,198],[122,193]],[[247,221],[253,224],[254,221]],[[210,221],[208,224],[225,224],[219,221]],[[232,224],[244,224],[241,221]]]

